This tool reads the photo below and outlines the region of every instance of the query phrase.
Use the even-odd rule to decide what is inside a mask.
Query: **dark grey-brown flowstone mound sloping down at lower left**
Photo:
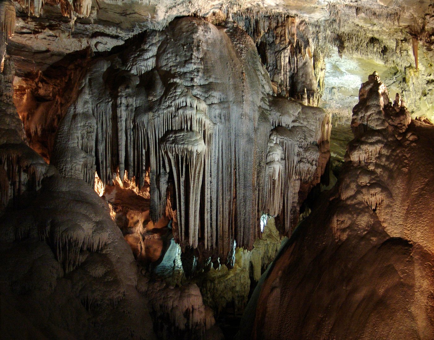
[[[0,76],[2,335],[153,338],[134,257],[107,205],[87,183],[60,176],[26,145],[12,78],[6,59]],[[135,314],[128,316],[128,308]]]

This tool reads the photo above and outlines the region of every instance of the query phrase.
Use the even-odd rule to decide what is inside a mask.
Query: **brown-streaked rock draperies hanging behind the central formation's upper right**
[[[321,80],[316,79],[314,72],[306,23],[292,16],[250,13],[248,10],[232,16],[252,37],[271,80],[281,89],[277,91],[298,100],[303,100],[306,94],[306,104],[318,106]],[[320,73],[318,69],[319,78]]]

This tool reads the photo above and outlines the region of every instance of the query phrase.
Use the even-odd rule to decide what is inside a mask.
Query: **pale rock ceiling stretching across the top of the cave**
[[[68,3],[68,1],[65,1]],[[403,32],[417,36],[431,49],[434,43],[434,9],[425,1],[92,1],[89,16],[62,13],[56,2],[47,1],[38,16],[15,3],[15,36],[8,47],[18,69],[44,70],[65,55],[91,49],[103,52],[122,45],[146,29],[162,29],[174,17],[208,16],[223,11],[260,16],[282,13],[312,25],[335,26],[342,32],[365,30],[377,39],[392,39]],[[33,11],[34,12],[34,11]],[[38,14],[38,13],[36,13]],[[81,15],[85,16],[85,15]],[[330,41],[328,41],[330,43]],[[325,43],[325,41],[324,41]],[[338,42],[339,43],[339,42]],[[20,71],[20,70],[17,70]]]

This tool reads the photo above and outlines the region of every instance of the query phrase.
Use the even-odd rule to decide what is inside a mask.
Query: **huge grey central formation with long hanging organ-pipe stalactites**
[[[327,159],[329,115],[273,97],[253,41],[233,24],[177,19],[98,59],[80,87],[52,164],[91,185],[95,169],[106,184],[117,168],[139,185],[149,172],[150,216],[165,214],[172,190],[183,248],[222,258],[233,240],[251,249],[261,212],[282,215],[290,233],[300,183],[317,183]]]

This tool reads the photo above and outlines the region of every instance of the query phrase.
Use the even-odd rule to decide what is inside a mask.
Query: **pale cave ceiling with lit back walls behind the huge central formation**
[[[359,85],[374,70],[391,92],[401,94],[413,118],[434,119],[434,4],[429,0],[60,0],[14,6],[15,34],[7,54],[15,65],[14,104],[24,122],[30,116],[39,123],[43,117],[59,120],[73,97],[69,85],[93,56],[117,53],[125,42],[149,29],[162,30],[178,16],[199,16],[214,24],[233,20],[247,31],[250,23],[267,16],[296,18],[314,55],[319,105],[338,122],[349,121]],[[263,30],[250,31],[260,52],[260,40],[270,37],[262,38]],[[24,124],[30,138],[33,128]]]

